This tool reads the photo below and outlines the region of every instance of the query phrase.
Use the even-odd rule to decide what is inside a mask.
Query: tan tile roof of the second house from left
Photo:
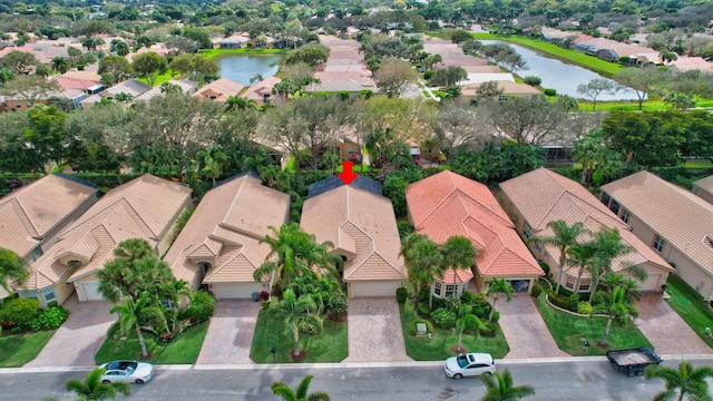
[[[64,256],[86,262],[71,273],[69,281],[74,281],[102,268],[124,239],[143,238],[156,246],[189,199],[191,188],[148,174],[111,189],[32,264],[27,287],[38,290],[59,283],[71,270],[59,262]]]

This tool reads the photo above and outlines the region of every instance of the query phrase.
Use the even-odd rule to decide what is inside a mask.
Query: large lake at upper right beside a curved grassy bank
[[[586,68],[561,62],[521,46],[501,42],[499,40],[481,40],[481,42],[484,45],[506,43],[511,46],[522,56],[522,59],[527,61],[527,69],[517,71],[517,75],[522,78],[527,76],[539,77],[543,80],[541,87],[556,89],[557,95],[568,95],[574,98],[587,99],[577,92],[577,86],[579,84],[587,84],[595,78],[607,79]],[[615,95],[603,94],[597,97],[597,101],[636,99],[636,94],[631,89],[619,90]]]

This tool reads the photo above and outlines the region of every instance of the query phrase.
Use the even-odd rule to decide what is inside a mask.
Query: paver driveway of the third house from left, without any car
[[[250,349],[258,312],[260,303],[252,300],[218,301],[196,364],[254,363]]]

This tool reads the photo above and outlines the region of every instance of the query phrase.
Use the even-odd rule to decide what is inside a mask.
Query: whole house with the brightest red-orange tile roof
[[[457,277],[449,268],[443,278],[436,277],[433,296],[462,295],[473,273],[479,291],[487,291],[489,278],[500,277],[517,292],[529,293],[545,274],[487,186],[456,173],[441,172],[409,185],[406,199],[409,222],[417,233],[438,244],[451,236],[465,236],[478,250],[475,268],[458,270]]]

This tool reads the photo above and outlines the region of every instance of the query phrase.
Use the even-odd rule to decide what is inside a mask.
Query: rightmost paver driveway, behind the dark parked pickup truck
[[[636,326],[660,355],[712,354],[691,326],[661,299],[661,294],[642,294],[636,302],[639,316]]]

